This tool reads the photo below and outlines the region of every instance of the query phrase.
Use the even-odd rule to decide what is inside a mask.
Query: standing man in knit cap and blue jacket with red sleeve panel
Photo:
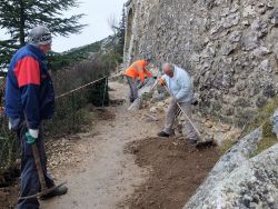
[[[51,50],[51,33],[39,26],[29,33],[29,44],[20,48],[12,57],[6,84],[6,115],[9,128],[18,133],[21,143],[21,197],[40,191],[40,181],[32,153],[32,143],[37,143],[44,180],[48,188],[54,186],[47,171],[47,157],[42,140],[41,121],[53,116],[54,92],[50,78],[46,53]],[[47,199],[66,193],[62,186],[41,197]],[[37,198],[19,200],[18,209],[38,209]]]

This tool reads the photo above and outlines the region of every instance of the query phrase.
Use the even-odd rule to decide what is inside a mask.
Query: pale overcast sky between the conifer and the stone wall
[[[88,26],[79,34],[71,34],[67,38],[53,37],[52,50],[56,52],[92,43],[112,34],[108,20],[111,16],[120,20],[122,7],[127,0],[79,0],[79,8],[67,11],[64,17],[85,13],[80,23]],[[3,31],[0,31],[0,36],[8,38]]]

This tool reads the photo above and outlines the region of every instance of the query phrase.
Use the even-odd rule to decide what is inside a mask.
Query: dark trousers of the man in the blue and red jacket
[[[28,129],[26,123],[21,122],[17,131],[21,145],[21,187],[20,187],[21,197],[32,196],[40,191],[40,181],[37,167],[34,163],[32,148],[31,145],[27,143],[26,139],[27,131]],[[51,176],[47,172],[47,158],[46,158],[44,141],[42,139],[41,127],[36,145],[38,146],[38,150],[40,153],[40,160],[44,172],[47,187],[51,188],[54,186],[54,182]],[[18,209],[38,209],[40,203],[37,198],[18,201]]]

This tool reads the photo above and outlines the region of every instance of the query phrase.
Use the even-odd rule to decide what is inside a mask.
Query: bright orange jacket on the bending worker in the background
[[[152,77],[151,72],[146,70],[146,67],[148,66],[148,62],[146,60],[138,60],[135,61],[127,70],[126,76],[131,77],[133,79],[140,78],[141,82],[145,82],[145,74],[149,78]],[[140,70],[142,69],[142,70]]]

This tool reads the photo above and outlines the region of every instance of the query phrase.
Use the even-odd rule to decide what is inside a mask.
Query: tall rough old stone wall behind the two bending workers
[[[278,0],[129,0],[125,62],[189,71],[198,110],[244,126],[278,90]]]

